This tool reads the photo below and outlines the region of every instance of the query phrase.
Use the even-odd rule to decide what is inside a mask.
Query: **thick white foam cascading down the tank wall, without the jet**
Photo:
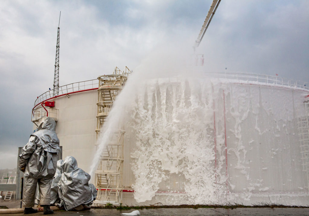
[[[226,193],[226,176],[222,175],[222,164],[216,168],[214,163],[210,79],[160,79],[145,86],[136,96],[127,126],[133,129],[136,143],[131,154],[135,158],[134,198],[138,202],[151,200],[161,182],[178,174],[174,184],[190,197],[189,203],[217,200],[218,193]]]

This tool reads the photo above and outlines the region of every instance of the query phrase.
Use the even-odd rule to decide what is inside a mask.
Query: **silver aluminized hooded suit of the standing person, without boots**
[[[57,154],[61,151],[55,132],[56,122],[50,117],[39,121],[38,131],[19,155],[19,169],[24,174],[23,206],[34,206],[36,184],[39,184],[40,205],[50,205],[50,185],[56,172]]]

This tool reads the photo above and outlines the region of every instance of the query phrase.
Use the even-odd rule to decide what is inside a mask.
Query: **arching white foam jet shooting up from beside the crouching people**
[[[99,159],[105,145],[112,139],[113,132],[117,131],[119,125],[123,124],[122,119],[125,117],[125,109],[128,104],[134,102],[134,95],[136,95],[136,92],[144,86],[146,80],[148,78],[162,76],[175,76],[176,74],[179,75],[181,71],[184,71],[184,57],[182,57],[182,60],[180,61],[178,53],[185,52],[183,50],[180,51],[179,49],[179,47],[177,49],[172,47],[170,48],[171,51],[167,52],[165,48],[163,53],[159,49],[154,50],[151,55],[146,57],[142,64],[134,70],[134,73],[130,75],[124,89],[116,97],[113,107],[106,119],[102,133],[103,135],[99,137],[99,147],[95,152],[90,167],[91,176],[99,164]]]

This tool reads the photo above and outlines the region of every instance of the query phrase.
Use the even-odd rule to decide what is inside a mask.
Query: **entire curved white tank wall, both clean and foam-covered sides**
[[[148,81],[120,122],[122,203],[308,205],[298,134],[306,94],[236,77]],[[86,172],[95,153],[97,100],[97,90],[63,95],[52,99],[50,111],[57,109],[63,158],[74,156]]]

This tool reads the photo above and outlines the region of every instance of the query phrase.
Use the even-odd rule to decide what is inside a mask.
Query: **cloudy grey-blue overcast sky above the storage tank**
[[[0,169],[16,167],[34,101],[53,86],[60,11],[62,86],[134,70],[163,44],[192,47],[211,2],[0,0]],[[205,70],[309,81],[308,11],[306,0],[222,0],[197,49]]]

